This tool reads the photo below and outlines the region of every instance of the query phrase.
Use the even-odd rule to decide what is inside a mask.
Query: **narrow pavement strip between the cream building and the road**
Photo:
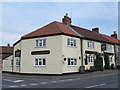
[[[118,69],[113,70],[104,70],[104,71],[95,71],[95,72],[86,72],[84,74],[67,74],[62,76],[49,76],[49,75],[19,75],[19,74],[10,74],[2,73],[3,77],[16,77],[16,78],[31,78],[31,79],[43,79],[43,80],[62,80],[62,79],[74,79],[74,78],[86,78],[94,76],[102,76],[109,74],[117,74]]]

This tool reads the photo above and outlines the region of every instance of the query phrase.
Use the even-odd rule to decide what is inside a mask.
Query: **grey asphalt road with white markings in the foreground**
[[[118,74],[66,80],[3,77],[2,88],[118,88]]]

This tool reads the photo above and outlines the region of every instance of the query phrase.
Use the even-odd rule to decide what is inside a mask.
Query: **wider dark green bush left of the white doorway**
[[[94,66],[96,70],[103,71],[103,62],[102,62],[102,57],[100,53],[96,54],[96,59],[94,60]]]

